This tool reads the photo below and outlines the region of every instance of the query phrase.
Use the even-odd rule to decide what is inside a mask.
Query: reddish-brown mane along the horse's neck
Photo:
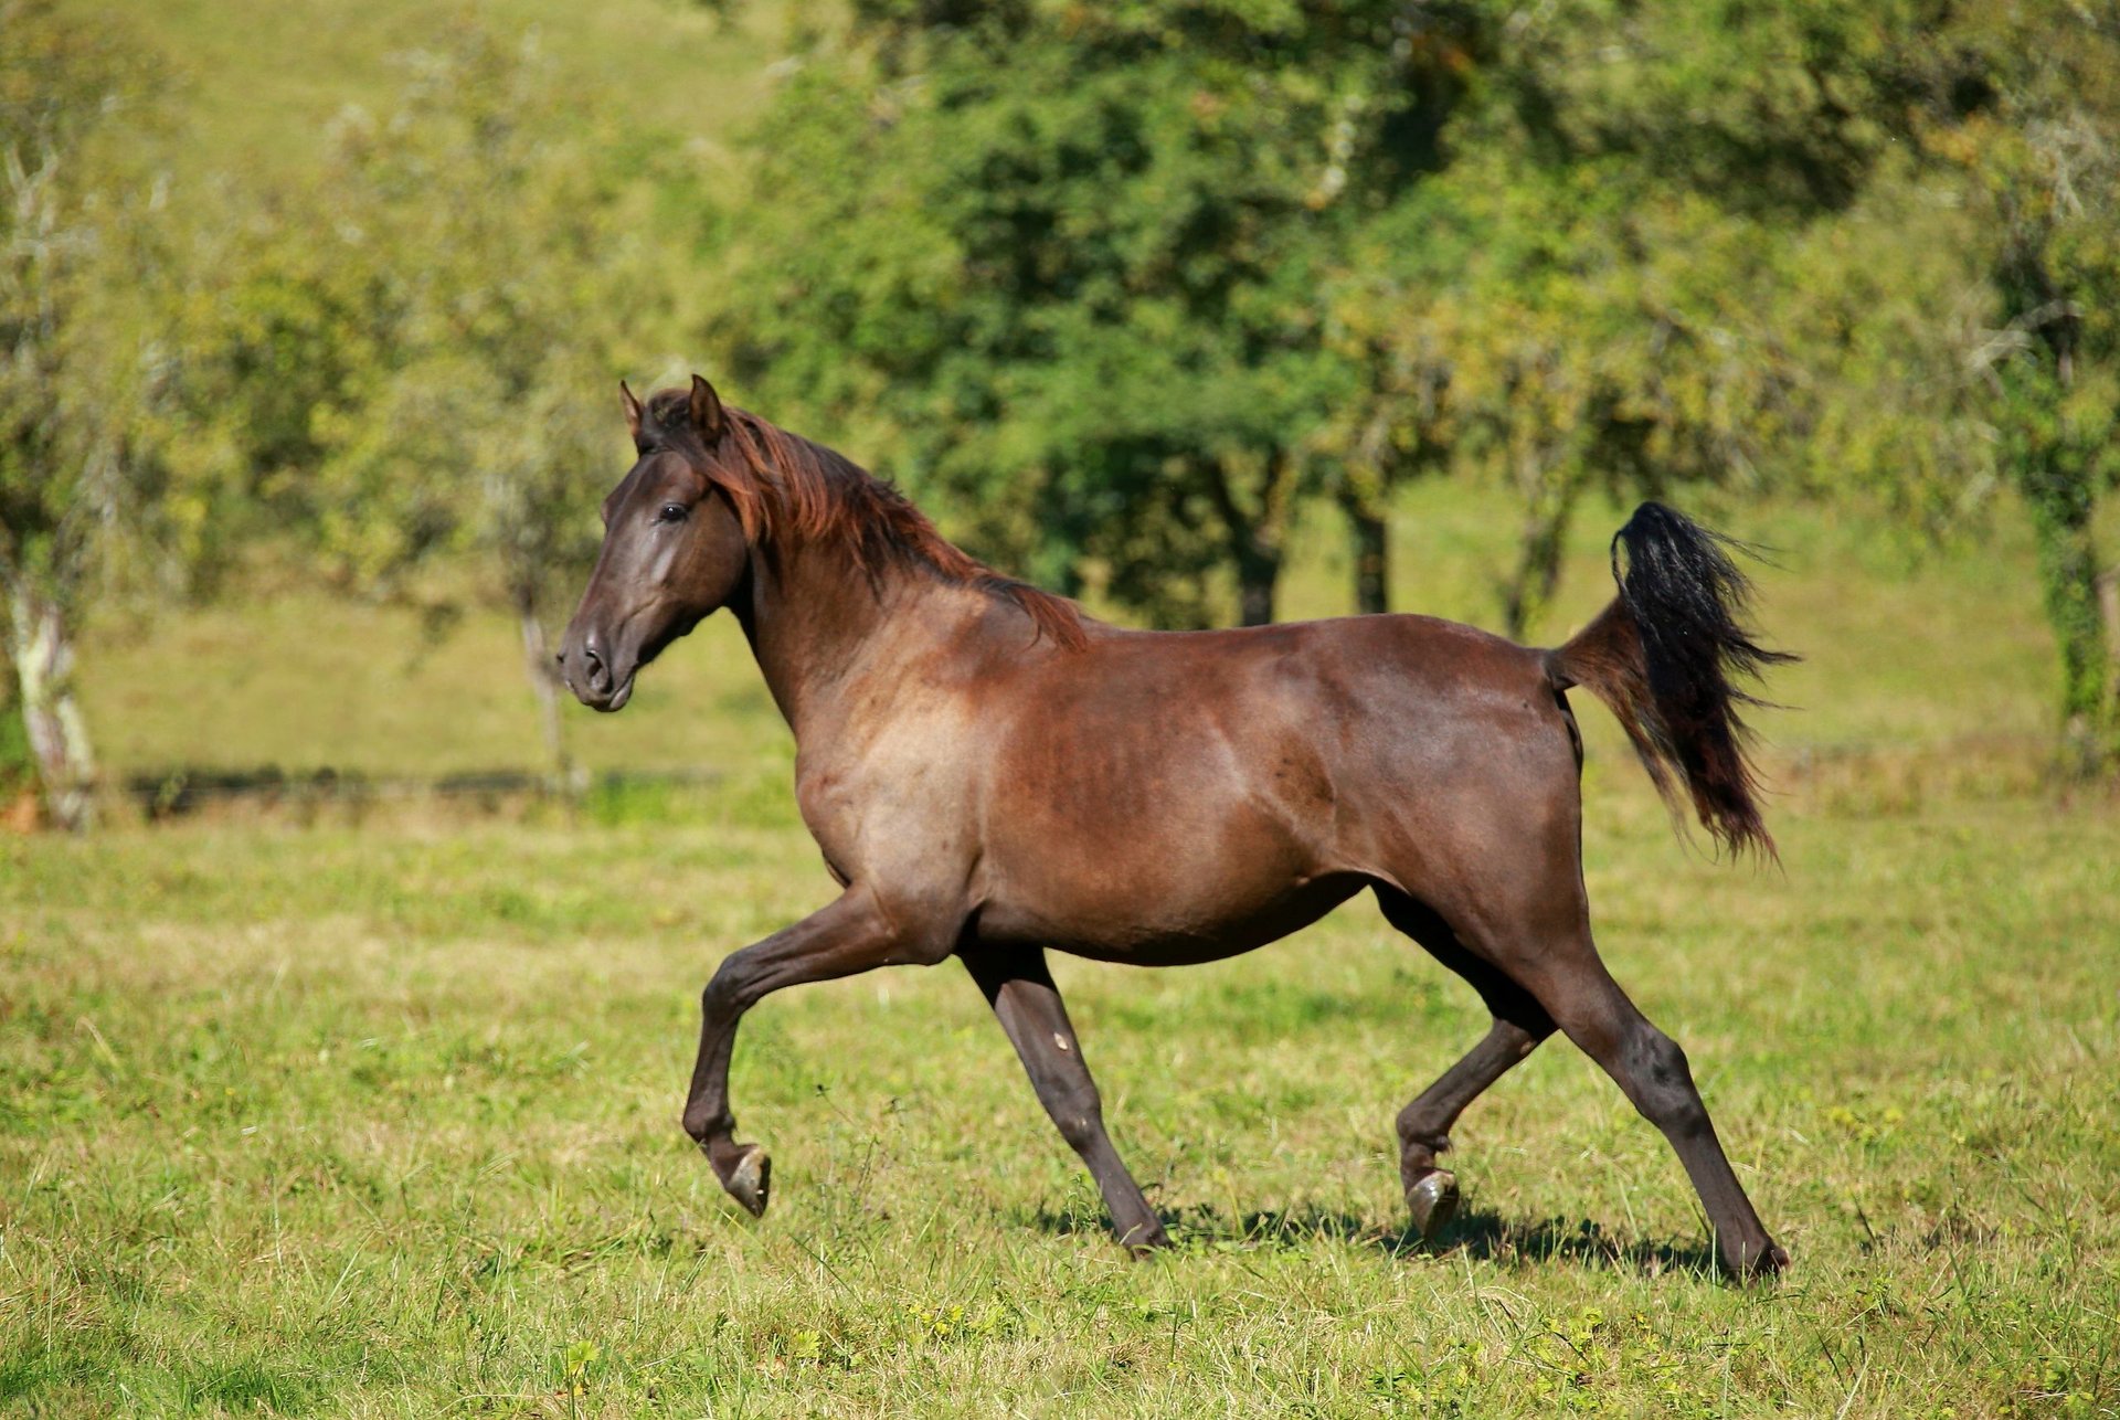
[[[664,441],[683,443],[700,473],[729,496],[753,543],[776,536],[835,543],[871,576],[888,566],[924,568],[946,583],[1013,602],[1066,651],[1088,644],[1075,602],[965,555],[905,494],[850,458],[727,405],[721,441],[708,451],[691,430],[685,390],[657,392],[647,413]],[[674,432],[685,437],[670,439]]]

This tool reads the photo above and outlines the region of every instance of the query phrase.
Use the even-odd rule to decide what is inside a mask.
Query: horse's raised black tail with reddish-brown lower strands
[[[1751,581],[1728,549],[1743,545],[1660,502],[1635,509],[1611,540],[1620,600],[1550,653],[1548,670],[1554,685],[1579,685],[1605,702],[1666,803],[1677,803],[1675,769],[1717,841],[1774,856],[1738,714],[1764,702],[1734,678],[1757,680],[1796,657],[1764,649],[1738,621]]]

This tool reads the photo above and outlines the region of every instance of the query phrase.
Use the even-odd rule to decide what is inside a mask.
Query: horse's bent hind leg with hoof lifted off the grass
[[[1376,888],[1376,899],[1384,918],[1465,977],[1495,1017],[1486,1036],[1463,1060],[1399,1111],[1399,1183],[1406,1189],[1406,1208],[1420,1236],[1433,1240],[1459,1206],[1456,1174],[1437,1168],[1435,1155],[1450,1149],[1450,1130],[1459,1115],[1554,1032],[1554,1017],[1531,992],[1467,952],[1456,933],[1429,907],[1382,884]]]

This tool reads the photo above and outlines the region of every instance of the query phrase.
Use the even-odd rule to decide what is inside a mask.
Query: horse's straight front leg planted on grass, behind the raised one
[[[1096,1081],[1090,1079],[1090,1066],[1083,1064],[1075,1026],[1066,1019],[1066,1005],[1045,966],[1045,952],[967,947],[960,956],[971,979],[986,992],[986,1002],[994,1007],[1001,1028],[1009,1032],[1030,1075],[1030,1087],[1039,1091],[1039,1104],[1052,1115],[1068,1147],[1090,1166],[1119,1244],[1136,1255],[1166,1246],[1170,1238],[1164,1236],[1162,1221],[1149,1210],[1141,1185],[1126,1172],[1119,1151],[1105,1134],[1105,1106],[1096,1096]]]

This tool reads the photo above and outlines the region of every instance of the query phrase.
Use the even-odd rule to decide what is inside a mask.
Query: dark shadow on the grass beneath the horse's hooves
[[[1433,1244],[1414,1227],[1384,1227],[1331,1208],[1291,1208],[1230,1214],[1213,1204],[1160,1208],[1158,1217],[1179,1250],[1293,1253],[1319,1242],[1370,1246],[1386,1257],[1463,1255],[1499,1267],[1573,1265],[1658,1276],[1664,1272],[1719,1276],[1707,1240],[1649,1240],[1607,1231],[1592,1219],[1505,1219],[1486,1208],[1461,1212]],[[1039,1208],[1030,1225],[1054,1236],[1109,1238],[1105,1214],[1085,1208]]]

